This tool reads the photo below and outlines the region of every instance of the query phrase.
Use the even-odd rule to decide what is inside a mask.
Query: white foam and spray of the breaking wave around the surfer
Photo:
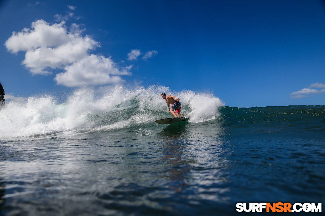
[[[0,110],[0,138],[65,131],[101,132],[146,123],[154,126],[154,120],[172,117],[161,98],[162,92],[180,98],[181,112],[188,114],[191,123],[215,119],[219,115],[218,107],[223,105],[212,94],[171,91],[159,85],[81,88],[72,92],[64,103],[56,102],[52,96],[7,102]]]

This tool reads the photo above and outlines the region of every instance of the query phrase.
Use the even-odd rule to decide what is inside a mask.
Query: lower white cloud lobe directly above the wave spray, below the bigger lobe
[[[65,67],[65,70],[54,79],[68,87],[120,83],[122,78],[114,75],[130,75],[127,70],[120,71],[110,58],[93,54]]]

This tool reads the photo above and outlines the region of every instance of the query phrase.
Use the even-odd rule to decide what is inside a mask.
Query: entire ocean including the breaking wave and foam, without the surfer
[[[161,92],[181,99],[188,122],[154,122],[171,117]],[[325,203],[325,106],[237,108],[209,93],[118,85],[64,103],[8,102],[0,123],[1,215],[237,215],[237,202]]]

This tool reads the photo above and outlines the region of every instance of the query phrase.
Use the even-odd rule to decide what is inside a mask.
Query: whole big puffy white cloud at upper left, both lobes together
[[[88,35],[82,36],[80,26],[72,24],[70,32],[65,22],[50,25],[44,20],[32,23],[31,29],[23,29],[6,41],[5,46],[11,53],[26,52],[22,62],[32,75],[46,75],[51,69],[64,69],[57,74],[57,84],[68,87],[119,83],[120,75],[130,75],[131,66],[122,70],[104,56],[89,54],[100,44]]]

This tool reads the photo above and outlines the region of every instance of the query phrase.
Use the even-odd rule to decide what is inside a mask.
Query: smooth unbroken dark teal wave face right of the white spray
[[[325,106],[220,107],[222,127],[232,136],[324,139]]]

